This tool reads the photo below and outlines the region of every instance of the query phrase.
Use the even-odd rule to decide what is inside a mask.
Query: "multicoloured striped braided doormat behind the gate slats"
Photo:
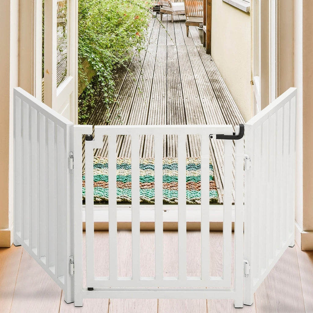
[[[178,203],[177,158],[163,158],[163,203]],[[140,202],[154,203],[154,158],[139,159]],[[131,202],[131,158],[116,159],[117,202]],[[210,202],[218,201],[210,160]],[[108,201],[108,159],[94,157],[94,201]],[[85,175],[83,174],[83,200]],[[186,158],[186,203],[201,203],[201,157]]]

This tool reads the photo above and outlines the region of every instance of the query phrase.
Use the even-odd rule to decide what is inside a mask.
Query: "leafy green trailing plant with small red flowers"
[[[151,3],[144,0],[79,0],[78,58],[79,122],[84,124],[101,95],[103,121],[110,122],[110,107],[117,105],[114,70],[124,67],[135,51],[145,48]],[[90,80],[83,62],[94,72]],[[138,85],[137,85],[138,86]],[[118,117],[121,120],[121,116]]]

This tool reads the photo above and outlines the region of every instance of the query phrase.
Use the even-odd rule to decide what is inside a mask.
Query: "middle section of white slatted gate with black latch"
[[[87,132],[88,131],[88,132]],[[82,134],[92,133],[92,126],[74,126],[75,155],[75,201],[76,212],[81,207],[82,185],[85,180],[85,214],[86,214],[86,283],[83,285],[82,260],[82,215],[75,214],[75,306],[83,305],[83,298],[228,298],[235,300],[236,307],[243,306],[243,191],[244,191],[244,144],[243,138],[236,140],[235,153],[235,269],[232,269],[232,162],[233,162],[233,127],[230,125],[157,125],[157,126],[95,126],[94,140],[88,136],[85,141],[85,170],[82,172]],[[224,138],[223,135],[226,136]],[[130,135],[131,164],[128,170],[131,179],[131,275],[123,277],[118,272],[118,240],[117,240],[117,178],[120,175],[116,159],[118,136]],[[154,276],[141,276],[140,249],[140,136],[152,137],[154,144],[154,191],[155,203],[155,264]],[[163,268],[163,138],[165,135],[177,136],[177,183],[178,183],[178,264],[177,275],[164,275]],[[186,248],[186,137],[199,135],[201,146],[201,274],[188,276]],[[242,132],[243,136],[243,132]],[[215,137],[215,138],[214,138]],[[231,137],[228,139],[228,137]],[[234,136],[236,137],[236,136]],[[201,138],[201,139],[200,139]],[[227,139],[227,140],[226,140]],[[223,260],[222,275],[210,275],[210,267],[214,259],[210,256],[210,211],[209,175],[210,175],[210,140],[223,140],[224,150],[224,195],[223,195]],[[108,146],[107,167],[102,171],[101,179],[108,182],[108,222],[109,239],[108,271],[102,267],[95,268],[95,236],[94,236],[94,149]],[[76,163],[77,160],[77,163]],[[77,165],[76,165],[77,164]],[[97,166],[97,164],[96,164]],[[96,167],[95,167],[96,168]],[[149,170],[150,171],[150,170]],[[150,173],[150,172],[149,172]],[[141,174],[142,175],[142,174]],[[194,174],[193,174],[194,175]],[[197,174],[198,175],[198,174]],[[164,176],[165,177],[165,176]],[[166,207],[166,206],[165,206]],[[77,240],[77,242],[76,242]],[[102,261],[103,263],[105,260]],[[102,263],[101,263],[102,264]],[[103,265],[103,264],[102,264]],[[215,264],[213,265],[215,266]],[[102,275],[100,275],[100,273]],[[103,275],[104,274],[104,275]],[[108,275],[107,275],[108,274]],[[79,275],[79,277],[77,276]],[[152,274],[153,275],[153,274]],[[235,283],[232,286],[232,278]],[[218,288],[218,289],[217,289]]]

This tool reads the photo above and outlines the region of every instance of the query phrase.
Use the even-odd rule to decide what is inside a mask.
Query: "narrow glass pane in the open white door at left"
[[[57,2],[57,87],[67,76],[67,0]]]

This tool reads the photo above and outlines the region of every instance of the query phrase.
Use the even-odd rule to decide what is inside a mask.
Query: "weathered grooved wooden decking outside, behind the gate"
[[[158,19],[160,15],[157,15]],[[163,26],[164,27],[163,27]],[[205,53],[197,27],[186,36],[185,16],[163,15],[162,25],[151,18],[147,49],[135,54],[129,64],[131,72],[120,70],[116,76],[117,106],[110,108],[111,125],[192,125],[230,124],[244,122],[213,59]],[[97,110],[87,124],[105,125],[105,106],[100,97]],[[117,138],[117,156],[130,157],[129,136]],[[223,202],[223,142],[211,141],[211,158]],[[141,157],[153,157],[153,138],[142,136]],[[164,138],[163,156],[176,156],[174,136]],[[187,138],[187,156],[200,155],[200,138]],[[95,150],[107,156],[107,141]]]

